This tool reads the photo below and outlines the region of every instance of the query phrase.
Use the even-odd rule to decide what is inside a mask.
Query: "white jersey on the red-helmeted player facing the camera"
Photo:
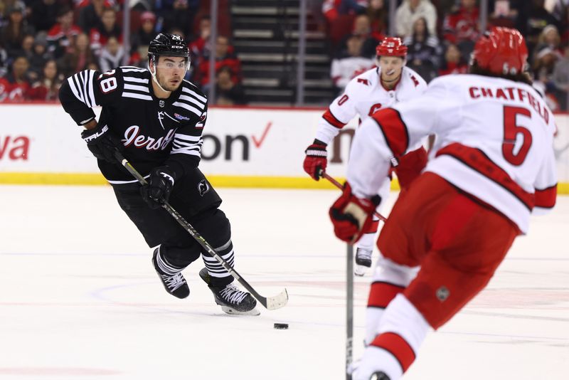
[[[373,68],[353,78],[344,94],[337,97],[322,115],[316,138],[329,144],[356,115],[361,121],[366,120],[378,110],[418,97],[427,89],[425,80],[408,67],[403,67],[393,90],[383,88],[380,75],[380,68]]]

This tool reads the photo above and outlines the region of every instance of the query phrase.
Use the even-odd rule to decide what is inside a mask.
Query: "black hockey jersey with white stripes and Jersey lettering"
[[[184,175],[198,167],[207,117],[207,99],[195,85],[183,80],[167,99],[154,96],[149,70],[124,66],[98,73],[85,70],[70,76],[60,89],[65,112],[78,125],[95,117],[124,144],[124,157],[143,175],[164,164]],[[120,164],[98,160],[111,184],[136,182]]]

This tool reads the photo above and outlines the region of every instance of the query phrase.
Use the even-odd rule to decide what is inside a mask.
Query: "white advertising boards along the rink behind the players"
[[[304,149],[322,112],[212,107],[203,130],[201,169],[210,176],[308,179],[302,170]],[[556,122],[559,181],[566,183],[569,115],[556,115]],[[344,176],[356,125],[352,120],[329,147],[328,171],[334,176]],[[0,105],[0,180],[9,182],[15,174],[99,174],[80,131],[58,105]]]

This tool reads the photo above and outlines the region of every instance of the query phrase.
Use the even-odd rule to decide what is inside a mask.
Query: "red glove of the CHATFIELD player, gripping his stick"
[[[379,196],[373,199],[358,198],[351,194],[351,186],[346,182],[344,192],[329,212],[336,236],[341,241],[356,243],[373,223],[373,211],[376,211],[380,201]]]

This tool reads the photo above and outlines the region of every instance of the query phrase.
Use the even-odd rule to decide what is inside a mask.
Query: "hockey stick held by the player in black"
[[[115,152],[115,158],[117,160],[119,160],[119,162],[122,164],[122,166],[125,169],[127,169],[129,171],[129,173],[132,174],[132,176],[134,176],[134,178],[136,178],[140,182],[140,184],[142,184],[142,185],[148,184],[147,180],[144,179],[144,177],[137,171],[137,169],[134,169],[134,167],[132,167],[130,162],[128,162],[128,160],[125,159],[120,152],[118,152],[118,151]],[[251,293],[251,295],[253,297],[255,297],[255,299],[257,301],[259,301],[261,303],[261,305],[263,305],[265,307],[265,309],[275,310],[275,309],[280,309],[281,307],[287,305],[287,302],[289,300],[289,295],[288,295],[286,289],[283,290],[282,292],[280,292],[278,295],[275,295],[275,297],[262,297],[262,295],[257,293],[257,291],[255,289],[253,289],[253,287],[251,285],[249,285],[249,283],[247,281],[245,281],[245,278],[242,278],[241,275],[239,273],[237,273],[237,271],[235,269],[233,269],[228,264],[227,261],[225,261],[220,255],[218,255],[216,250],[214,250],[210,246],[210,244],[206,241],[206,239],[204,239],[198,233],[198,231],[196,231],[196,229],[193,228],[191,226],[191,224],[188,223],[186,221],[186,219],[184,219],[184,217],[178,213],[178,211],[174,210],[174,208],[172,206],[170,206],[170,204],[166,201],[164,202],[164,204],[162,204],[162,207],[166,211],[168,211],[168,213],[174,219],[176,219],[176,221],[180,224],[180,226],[182,226],[184,228],[184,230],[188,231],[188,233],[191,235],[191,237],[194,238],[198,242],[198,244],[204,250],[207,251],[207,253],[209,253],[214,258],[216,258],[216,260],[218,260],[218,262],[221,264],[221,266],[223,266],[223,268],[225,268],[225,270],[227,270],[229,272],[229,274],[232,275],[233,278],[235,278],[235,280],[238,280],[239,283],[241,285],[243,285],[243,287],[245,287],[245,289],[247,289]]]

